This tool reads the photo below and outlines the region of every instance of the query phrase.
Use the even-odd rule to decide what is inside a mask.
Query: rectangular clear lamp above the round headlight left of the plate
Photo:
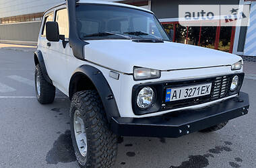
[[[133,77],[135,80],[158,79],[161,77],[161,72],[154,69],[134,67]]]

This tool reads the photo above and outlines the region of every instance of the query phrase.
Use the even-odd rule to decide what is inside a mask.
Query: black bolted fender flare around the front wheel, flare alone
[[[95,67],[92,67],[90,65],[82,65],[75,70],[69,83],[69,95],[72,94],[71,83],[73,77],[75,77],[76,74],[81,73],[86,75],[96,87],[96,90],[98,91],[98,94],[100,95],[100,98],[102,100],[108,121],[110,121],[110,118],[112,117],[120,117],[119,109],[117,107],[117,102],[115,100],[113,91],[110,88],[110,85],[108,84],[108,81],[106,81],[106,78],[104,77],[102,72]]]

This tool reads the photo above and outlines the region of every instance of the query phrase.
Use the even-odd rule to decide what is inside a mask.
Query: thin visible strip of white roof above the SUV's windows
[[[153,13],[152,11],[148,10],[148,9],[144,9],[142,7],[136,7],[133,5],[127,5],[124,3],[114,3],[114,2],[110,2],[110,1],[89,1],[89,0],[79,0],[77,1],[77,3],[94,3],[94,4],[102,4],[102,5],[116,5],[116,6],[120,6],[120,7],[129,7],[129,8],[133,8],[133,9],[139,9],[141,11],[147,11],[150,13]],[[51,7],[50,9],[46,10],[44,13],[46,13],[47,11],[54,9],[55,7],[59,7],[61,5],[65,5],[66,3],[60,3],[59,5],[55,5],[54,7]]]

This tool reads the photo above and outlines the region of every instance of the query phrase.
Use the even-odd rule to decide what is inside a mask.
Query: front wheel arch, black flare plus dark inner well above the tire
[[[98,91],[108,121],[111,117],[120,117],[117,102],[108,81],[99,69],[90,65],[82,65],[73,73],[69,82],[69,99],[75,92],[86,89],[96,89]]]

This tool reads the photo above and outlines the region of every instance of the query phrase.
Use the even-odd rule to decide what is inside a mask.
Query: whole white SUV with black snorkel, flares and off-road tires
[[[118,136],[213,131],[248,113],[240,56],[170,42],[160,22],[131,5],[68,0],[44,13],[36,95],[71,99],[79,165],[112,167]]]

